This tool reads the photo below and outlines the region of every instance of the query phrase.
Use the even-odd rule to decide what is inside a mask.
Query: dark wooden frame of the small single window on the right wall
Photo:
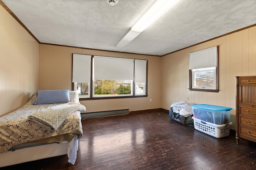
[[[215,89],[209,89],[209,88],[193,88],[193,84],[194,84],[194,79],[193,79],[193,71],[192,69],[189,69],[189,90],[191,91],[202,91],[202,92],[219,92],[219,46],[217,47],[217,56],[216,56],[216,71],[215,71],[215,84],[216,84],[216,88]],[[210,49],[210,48],[209,48]],[[208,67],[206,67],[208,68]]]

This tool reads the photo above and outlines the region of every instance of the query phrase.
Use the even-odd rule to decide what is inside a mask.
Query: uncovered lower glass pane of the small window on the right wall
[[[193,88],[203,89],[215,89],[216,78],[215,78],[215,67],[212,68],[201,68],[193,69]]]

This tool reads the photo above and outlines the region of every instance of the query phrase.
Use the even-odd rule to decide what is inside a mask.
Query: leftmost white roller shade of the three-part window
[[[90,82],[91,56],[73,54],[72,82]]]

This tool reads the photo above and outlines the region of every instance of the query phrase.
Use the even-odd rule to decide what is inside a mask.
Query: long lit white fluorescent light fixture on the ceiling
[[[179,0],[157,0],[153,6],[134,24],[131,30],[122,37],[115,45],[116,48],[123,48],[136,38],[144,29],[160,18],[170,8],[177,4]]]

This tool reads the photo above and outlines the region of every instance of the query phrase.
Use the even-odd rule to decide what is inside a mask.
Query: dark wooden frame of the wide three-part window
[[[74,54],[74,53],[73,53]],[[72,54],[72,58],[73,58],[73,54]],[[88,94],[88,97],[87,98],[80,98],[79,97],[79,100],[80,101],[83,101],[83,100],[102,100],[102,99],[119,99],[119,98],[141,98],[141,97],[148,97],[148,60],[145,60],[146,61],[146,83],[145,83],[145,92],[143,95],[136,95],[136,88],[135,88],[135,83],[134,83],[134,80],[132,80],[132,87],[131,87],[131,90],[132,90],[132,94],[131,95],[110,95],[110,96],[94,96],[94,80],[93,80],[93,57],[94,55],[91,55],[91,78],[90,78],[90,82],[89,82],[89,89],[90,89],[90,94]],[[102,56],[102,57],[106,57],[106,56]],[[116,57],[116,58],[121,58],[121,57]],[[126,58],[124,58],[126,59]],[[137,60],[137,59],[134,59],[134,60]],[[72,62],[73,62],[73,59],[72,59]],[[72,63],[72,72],[73,72],[73,63]],[[72,85],[71,85],[71,89],[74,90],[74,82],[72,82]]]

